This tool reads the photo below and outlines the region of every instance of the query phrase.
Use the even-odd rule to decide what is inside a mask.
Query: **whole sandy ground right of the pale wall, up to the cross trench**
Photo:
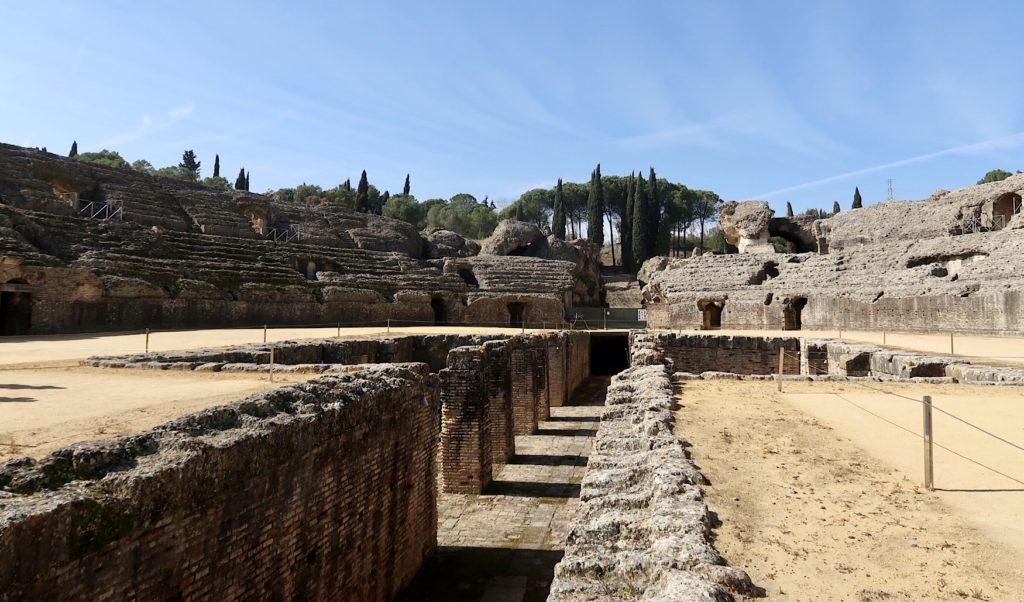
[[[879,386],[872,383],[872,386]],[[678,431],[712,481],[717,547],[770,600],[1024,600],[1024,485],[936,449],[920,404],[852,383],[689,381]],[[1024,391],[887,385],[1024,440]],[[845,400],[844,400],[845,399]],[[936,413],[937,442],[1024,479],[1024,455]]]

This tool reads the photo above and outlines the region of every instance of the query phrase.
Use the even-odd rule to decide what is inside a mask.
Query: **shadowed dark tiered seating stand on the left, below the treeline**
[[[388,318],[519,326],[561,324],[567,308],[600,300],[601,282],[592,245],[529,224],[505,222],[478,245],[339,206],[0,144],[0,335]]]

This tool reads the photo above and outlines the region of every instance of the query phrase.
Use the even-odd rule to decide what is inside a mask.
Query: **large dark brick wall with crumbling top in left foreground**
[[[0,600],[383,600],[436,545],[438,398],[371,367],[0,468]]]

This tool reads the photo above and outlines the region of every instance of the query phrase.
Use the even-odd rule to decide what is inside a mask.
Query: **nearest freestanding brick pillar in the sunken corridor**
[[[492,478],[483,347],[449,352],[441,384],[441,490],[481,493]]]

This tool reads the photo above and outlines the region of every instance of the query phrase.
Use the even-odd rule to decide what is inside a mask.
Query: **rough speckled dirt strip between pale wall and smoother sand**
[[[773,383],[680,387],[677,428],[712,482],[716,546],[768,599],[1024,599],[1024,543],[989,536]]]

